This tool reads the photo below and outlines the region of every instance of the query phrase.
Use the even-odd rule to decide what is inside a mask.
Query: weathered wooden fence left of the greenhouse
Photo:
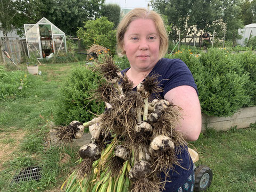
[[[5,50],[14,61],[18,64],[21,62],[23,55],[28,55],[26,40],[19,40],[16,37],[0,37],[0,63],[10,62],[7,56],[3,53]]]

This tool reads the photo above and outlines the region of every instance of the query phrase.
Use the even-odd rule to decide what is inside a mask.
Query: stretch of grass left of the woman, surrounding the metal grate
[[[32,76],[28,94],[24,98],[0,102],[0,150],[9,155],[0,155],[0,191],[46,191],[57,188],[68,177],[77,161],[77,147],[46,148],[50,122],[54,121],[53,110],[59,88],[72,65],[40,65],[42,76]],[[25,70],[23,66],[23,70]],[[63,154],[71,160],[60,163]],[[14,174],[27,166],[43,168],[40,181],[12,183]]]

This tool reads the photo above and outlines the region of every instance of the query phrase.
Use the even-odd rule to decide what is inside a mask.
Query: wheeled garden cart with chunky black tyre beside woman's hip
[[[205,165],[195,166],[195,162],[199,160],[199,155],[196,151],[188,148],[188,152],[193,160],[193,168],[195,172],[195,187],[194,191],[205,191],[210,187],[212,181],[212,170]]]

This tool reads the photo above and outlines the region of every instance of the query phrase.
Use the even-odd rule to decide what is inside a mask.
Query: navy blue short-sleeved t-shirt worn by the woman
[[[126,73],[128,69],[122,72]],[[160,74],[158,81],[160,82],[160,87],[163,89],[163,91],[159,93],[160,99],[163,99],[164,95],[169,90],[183,85],[193,87],[198,94],[191,71],[188,69],[187,65],[179,59],[162,58],[156,63],[153,70],[148,75],[150,76],[151,74]],[[194,174],[193,161],[187,151],[187,147],[183,148],[182,152],[177,154],[177,157],[180,160],[180,166],[174,165],[174,170],[170,170],[170,178],[168,178],[168,180],[171,182],[166,182],[164,186],[165,190],[163,191],[177,191],[180,186],[186,183],[189,176]],[[164,174],[162,174],[162,178],[165,178]]]

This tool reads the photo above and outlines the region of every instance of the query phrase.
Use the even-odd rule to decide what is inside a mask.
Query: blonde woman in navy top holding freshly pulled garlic
[[[117,29],[118,47],[129,60],[130,68],[124,70],[134,88],[151,73],[160,74],[163,92],[160,96],[183,108],[183,120],[176,130],[184,133],[186,140],[194,141],[201,132],[201,110],[197,88],[191,72],[180,60],[162,58],[168,49],[168,36],[161,16],[146,9],[128,12]],[[187,150],[177,154],[180,166],[170,171],[171,182],[165,191],[193,191],[194,171]],[[182,167],[182,168],[181,168]],[[164,177],[164,176],[163,176]]]

